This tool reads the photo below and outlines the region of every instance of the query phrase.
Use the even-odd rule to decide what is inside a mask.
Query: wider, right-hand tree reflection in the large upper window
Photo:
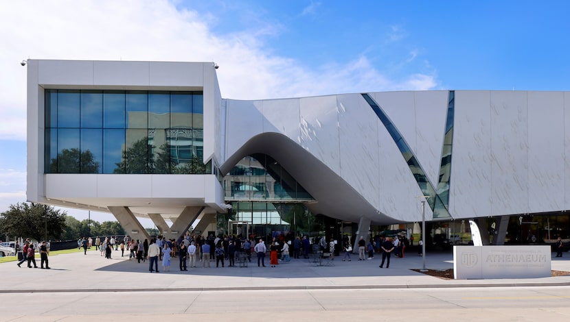
[[[155,149],[148,145],[148,137],[141,138],[131,147],[123,151],[122,160],[117,164],[113,173],[177,173],[177,174],[203,174],[206,166],[196,156],[189,162],[176,163],[170,156],[170,145],[164,143],[156,151],[149,153],[148,149]]]

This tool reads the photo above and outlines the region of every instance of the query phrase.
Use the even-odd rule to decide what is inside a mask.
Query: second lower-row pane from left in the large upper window
[[[80,173],[79,129],[58,131],[58,173]]]

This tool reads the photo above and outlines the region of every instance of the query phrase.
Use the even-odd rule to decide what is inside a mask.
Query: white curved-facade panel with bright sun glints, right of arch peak
[[[301,146],[332,171],[340,173],[337,97],[299,99],[299,107]]]

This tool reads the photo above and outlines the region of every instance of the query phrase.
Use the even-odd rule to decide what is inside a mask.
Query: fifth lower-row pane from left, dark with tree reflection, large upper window
[[[148,173],[148,167],[154,164],[148,158],[148,147],[148,130],[126,130],[126,151],[122,158],[125,173]]]

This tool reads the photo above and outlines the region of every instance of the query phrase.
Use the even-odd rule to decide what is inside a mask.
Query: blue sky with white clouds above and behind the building
[[[568,12],[558,0],[0,1],[0,212],[26,200],[23,60],[216,62],[227,99],[570,90]]]

